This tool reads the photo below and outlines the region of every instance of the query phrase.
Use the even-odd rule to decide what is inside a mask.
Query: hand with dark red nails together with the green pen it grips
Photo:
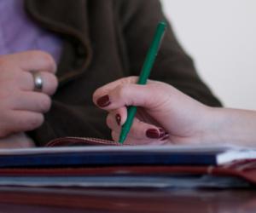
[[[147,80],[165,28],[165,23],[157,28],[140,78],[121,78],[96,89],[93,95],[96,106],[108,111],[107,124],[114,141],[138,145],[200,142],[197,124],[207,107],[171,85]],[[127,110],[126,106],[133,107]],[[188,109],[193,113],[189,115]]]

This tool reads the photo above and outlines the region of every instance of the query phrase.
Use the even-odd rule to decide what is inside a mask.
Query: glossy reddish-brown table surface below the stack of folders
[[[0,187],[0,212],[256,212],[256,191]]]

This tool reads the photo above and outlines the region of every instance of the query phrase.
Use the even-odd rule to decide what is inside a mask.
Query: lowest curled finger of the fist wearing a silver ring
[[[9,122],[1,123],[1,134],[5,136],[13,133],[37,129],[44,122],[44,116],[38,112],[12,111],[7,118]]]

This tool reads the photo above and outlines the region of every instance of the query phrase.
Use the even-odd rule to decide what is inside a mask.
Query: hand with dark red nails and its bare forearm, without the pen
[[[171,85],[137,77],[121,78],[96,89],[93,101],[108,111],[107,124],[119,141],[125,106],[137,106],[126,142],[136,144],[236,144],[253,146],[256,112],[207,107]]]

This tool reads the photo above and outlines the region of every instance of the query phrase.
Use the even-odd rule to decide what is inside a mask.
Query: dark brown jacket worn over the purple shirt
[[[44,124],[29,133],[43,146],[61,136],[110,138],[106,112],[95,89],[117,78],[139,75],[158,21],[158,0],[26,0],[32,20],[63,39],[60,85]],[[170,83],[210,106],[220,106],[195,72],[169,26],[150,78]]]

